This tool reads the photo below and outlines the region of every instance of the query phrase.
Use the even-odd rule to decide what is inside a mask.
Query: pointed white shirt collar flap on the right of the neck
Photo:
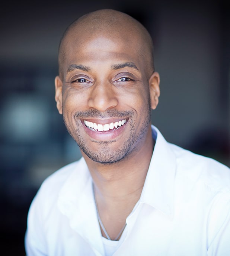
[[[140,202],[173,217],[176,157],[160,131],[152,125],[156,141]]]

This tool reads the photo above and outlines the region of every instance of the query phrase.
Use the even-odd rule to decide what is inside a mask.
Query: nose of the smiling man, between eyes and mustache
[[[116,107],[118,99],[113,87],[113,84],[105,81],[95,83],[88,99],[89,107],[99,111],[106,111],[109,108]]]

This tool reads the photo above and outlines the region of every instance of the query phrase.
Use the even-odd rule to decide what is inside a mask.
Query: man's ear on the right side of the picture
[[[154,110],[157,107],[160,96],[160,75],[154,72],[148,80],[150,90],[151,108]]]

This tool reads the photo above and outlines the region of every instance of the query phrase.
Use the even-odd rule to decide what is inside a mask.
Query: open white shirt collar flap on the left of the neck
[[[57,205],[69,219],[71,228],[102,254],[104,249],[93,199],[92,177],[83,157],[74,164],[59,192]]]

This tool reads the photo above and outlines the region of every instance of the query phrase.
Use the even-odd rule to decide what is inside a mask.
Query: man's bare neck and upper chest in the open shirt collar
[[[126,218],[141,196],[153,148],[154,142],[149,127],[139,150],[121,161],[100,164],[83,154],[93,178],[99,219],[112,240],[117,239],[122,232]],[[102,227],[101,232],[107,237]]]

